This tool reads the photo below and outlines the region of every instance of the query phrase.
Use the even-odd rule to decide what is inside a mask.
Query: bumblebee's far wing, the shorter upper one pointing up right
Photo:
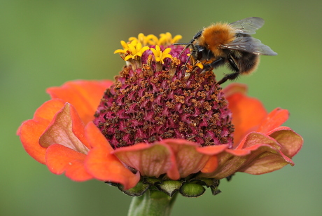
[[[255,34],[256,30],[264,25],[262,18],[246,18],[230,23],[230,26],[236,30],[236,33],[241,34]]]

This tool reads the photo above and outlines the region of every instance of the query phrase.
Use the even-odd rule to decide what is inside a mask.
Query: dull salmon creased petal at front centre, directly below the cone
[[[116,149],[114,154],[141,175],[159,177],[167,173],[172,180],[199,172],[211,155],[197,151],[199,144],[180,139],[166,139],[154,144],[135,144]]]

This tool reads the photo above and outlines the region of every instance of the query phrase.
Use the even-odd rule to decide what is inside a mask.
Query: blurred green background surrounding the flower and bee
[[[293,161],[266,175],[237,173],[223,193],[179,196],[172,215],[322,215],[321,1],[0,1],[0,215],[126,215],[131,198],[103,182],[53,175],[15,132],[49,100],[45,88],[74,79],[113,79],[113,51],[130,36],[172,32],[189,41],[211,22],[251,16],[255,35],[279,55],[238,81],[304,137]],[[227,72],[219,69],[218,74]],[[225,84],[227,85],[227,84]],[[245,107],[247,109],[247,107]]]

